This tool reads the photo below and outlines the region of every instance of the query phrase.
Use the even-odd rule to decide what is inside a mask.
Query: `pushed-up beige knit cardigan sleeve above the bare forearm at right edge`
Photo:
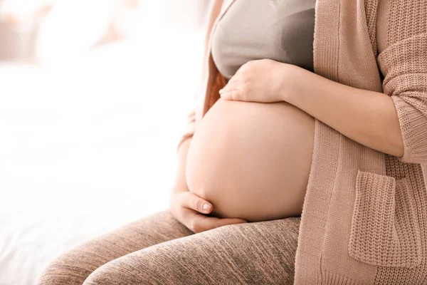
[[[427,2],[391,2],[389,46],[377,60],[384,76],[384,93],[394,102],[404,140],[404,155],[397,158],[401,162],[424,164],[427,163],[427,21],[426,15],[417,15],[427,10]]]

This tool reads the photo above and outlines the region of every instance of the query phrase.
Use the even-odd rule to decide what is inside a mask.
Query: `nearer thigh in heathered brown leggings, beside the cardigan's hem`
[[[115,259],[84,285],[293,284],[300,217],[230,224]]]

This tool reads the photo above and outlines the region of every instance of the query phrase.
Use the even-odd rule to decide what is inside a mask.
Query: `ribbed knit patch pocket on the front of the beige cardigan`
[[[416,202],[406,177],[357,170],[349,256],[376,266],[421,264]]]

